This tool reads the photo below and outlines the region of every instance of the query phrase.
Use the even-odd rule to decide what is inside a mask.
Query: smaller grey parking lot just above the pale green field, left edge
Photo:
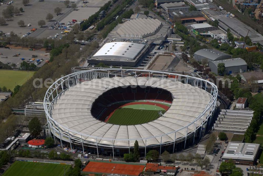
[[[43,50],[36,50],[36,51],[29,51],[28,48],[22,49],[21,47],[17,47],[17,49],[7,49],[7,48],[0,48],[0,53],[3,55],[0,55],[0,62],[3,62],[4,64],[10,62],[10,64],[15,63],[17,67],[19,67],[19,64],[23,62],[21,58],[24,58],[26,62],[30,62],[29,59],[32,59],[32,55],[37,55],[38,57],[35,58],[35,61],[31,61],[30,63],[35,63],[36,59],[43,59],[43,62],[40,62],[38,67],[41,67],[46,60],[49,60],[49,53],[45,53]],[[18,57],[13,57],[14,54],[20,55]],[[8,58],[2,58],[2,57],[8,57]]]

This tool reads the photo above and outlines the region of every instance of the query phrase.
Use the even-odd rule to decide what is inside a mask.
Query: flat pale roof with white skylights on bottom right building
[[[229,142],[222,159],[254,161],[260,144]]]

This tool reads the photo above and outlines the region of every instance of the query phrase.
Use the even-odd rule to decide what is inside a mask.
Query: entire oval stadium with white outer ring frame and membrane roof
[[[88,79],[99,71],[64,76],[45,94],[49,135],[63,147],[119,157],[132,151],[137,140],[141,156],[151,149],[176,152],[198,142],[211,123],[218,90],[207,80],[113,68],[102,69],[108,72],[104,77]],[[119,74],[113,77],[113,72]]]

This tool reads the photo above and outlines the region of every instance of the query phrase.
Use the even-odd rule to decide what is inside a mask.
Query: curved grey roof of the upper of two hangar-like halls
[[[221,56],[229,56],[229,58],[231,58],[229,54],[226,54],[221,51],[214,50],[214,49],[200,49],[196,51],[194,54],[205,57],[205,58],[209,58],[213,61],[218,60],[218,58]]]

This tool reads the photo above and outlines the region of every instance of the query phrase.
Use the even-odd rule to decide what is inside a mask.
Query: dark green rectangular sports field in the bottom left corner
[[[63,176],[71,165],[15,161],[3,176]]]

